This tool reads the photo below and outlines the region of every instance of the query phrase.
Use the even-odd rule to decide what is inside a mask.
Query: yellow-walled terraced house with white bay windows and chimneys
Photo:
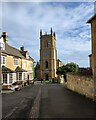
[[[3,42],[2,42],[3,40]],[[20,50],[8,44],[8,34],[3,32],[1,38],[1,67],[2,83],[12,84],[18,80],[33,80],[34,59],[28,51],[21,47]]]

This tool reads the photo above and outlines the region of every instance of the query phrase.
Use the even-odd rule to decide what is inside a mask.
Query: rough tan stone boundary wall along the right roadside
[[[92,76],[68,73],[67,88],[94,99],[94,81]]]

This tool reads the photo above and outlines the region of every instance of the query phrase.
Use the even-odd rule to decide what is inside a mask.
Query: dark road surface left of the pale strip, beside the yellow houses
[[[19,91],[2,95],[3,118],[28,118],[39,86],[25,86]]]

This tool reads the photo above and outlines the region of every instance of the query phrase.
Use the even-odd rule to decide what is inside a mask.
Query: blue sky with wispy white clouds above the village
[[[37,62],[40,59],[40,29],[43,34],[56,32],[57,57],[65,64],[75,62],[89,67],[93,2],[4,2],[2,31],[8,43],[18,49],[24,46]]]

